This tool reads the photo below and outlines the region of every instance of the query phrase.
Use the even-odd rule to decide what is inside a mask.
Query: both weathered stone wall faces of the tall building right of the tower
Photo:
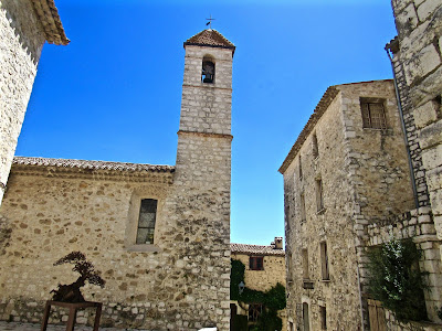
[[[335,88],[339,94],[306,132],[309,136],[283,173],[286,256],[293,256],[287,317],[295,328],[302,328],[302,305],[308,303],[314,317],[311,318],[312,330],[320,330],[320,307],[326,308],[327,328],[361,328],[364,302],[359,297],[358,275],[362,275],[364,285],[367,226],[404,213],[414,205],[393,83],[379,81]],[[362,97],[383,100],[387,129],[364,128]],[[314,135],[318,157],[313,152]],[[323,183],[324,209],[320,211],[315,197],[318,179]],[[329,280],[323,279],[320,243],[324,242]],[[308,266],[303,265],[302,249],[307,249]],[[305,269],[313,289],[303,286]]]

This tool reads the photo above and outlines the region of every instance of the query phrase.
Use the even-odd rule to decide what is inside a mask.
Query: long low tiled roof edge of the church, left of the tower
[[[109,162],[109,161],[88,161],[72,159],[46,159],[46,158],[25,158],[14,157],[13,164],[17,166],[35,166],[35,167],[57,167],[57,168],[76,168],[88,170],[115,170],[131,172],[173,172],[172,166],[152,166],[140,163]]]

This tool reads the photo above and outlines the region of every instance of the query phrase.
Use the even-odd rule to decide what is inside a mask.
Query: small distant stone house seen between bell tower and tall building
[[[278,282],[285,286],[285,252],[282,237],[275,237],[269,246],[230,244],[230,249],[231,258],[245,266],[244,282],[248,288],[265,292]],[[235,313],[248,316],[253,322],[253,312],[249,305],[231,301],[232,305],[235,307]],[[278,317],[283,321],[282,330],[287,330],[285,309],[278,311]]]

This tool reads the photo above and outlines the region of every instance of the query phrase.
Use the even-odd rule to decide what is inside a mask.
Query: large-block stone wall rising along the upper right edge
[[[393,0],[399,50],[409,88],[433,220],[442,238],[442,3],[438,0]]]

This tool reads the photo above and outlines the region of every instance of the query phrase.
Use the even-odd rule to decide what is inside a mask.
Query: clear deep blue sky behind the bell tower
[[[175,164],[185,50],[233,42],[231,241],[284,234],[277,172],[329,85],[391,78],[389,0],[55,1],[67,46],[45,45],[18,156]]]

